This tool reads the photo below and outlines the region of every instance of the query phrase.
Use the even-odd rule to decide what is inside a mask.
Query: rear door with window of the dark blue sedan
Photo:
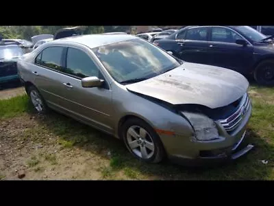
[[[178,57],[187,62],[208,64],[208,28],[192,27],[176,36]]]

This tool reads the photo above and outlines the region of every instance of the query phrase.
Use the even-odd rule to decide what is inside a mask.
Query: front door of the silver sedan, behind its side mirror
[[[81,49],[69,47],[66,52],[66,68],[62,78],[62,90],[66,108],[73,115],[97,128],[112,133],[112,91],[107,82],[103,87],[84,88],[81,79],[96,76],[104,79],[95,62]]]

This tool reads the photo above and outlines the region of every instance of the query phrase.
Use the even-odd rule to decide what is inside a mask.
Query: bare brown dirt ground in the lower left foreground
[[[58,137],[40,131],[33,135],[43,117],[23,115],[0,122],[0,171],[3,179],[103,179],[104,157],[80,148],[64,148]],[[32,130],[32,132],[30,132]],[[32,134],[32,135],[30,135]],[[127,179],[123,174],[119,179]]]

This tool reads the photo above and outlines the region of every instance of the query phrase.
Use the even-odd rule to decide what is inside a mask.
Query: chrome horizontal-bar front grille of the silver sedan
[[[245,117],[247,111],[249,110],[250,101],[247,93],[240,100],[240,104],[235,113],[227,117],[226,119],[220,119],[219,122],[223,125],[225,130],[228,133],[232,133],[242,121],[242,118]]]

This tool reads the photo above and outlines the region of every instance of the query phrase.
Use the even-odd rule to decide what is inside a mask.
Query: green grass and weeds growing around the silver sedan
[[[100,168],[102,179],[119,179],[118,175],[123,174],[126,179],[273,180],[274,88],[251,85],[249,91],[253,102],[253,112],[247,135],[255,148],[245,157],[216,168],[195,170],[169,162],[157,165],[142,163],[129,154],[121,141],[55,112],[49,113],[43,119],[38,119],[42,127],[36,129],[41,130],[40,135],[50,131],[55,135],[57,143],[64,149],[84,150],[88,154],[100,157],[98,161],[100,159],[108,161],[108,165]],[[1,100],[0,116],[14,117],[28,112],[27,102],[26,96]],[[29,135],[35,134],[29,133]],[[109,157],[107,154],[110,150]],[[45,155],[45,160],[53,164],[57,162],[56,157],[51,155]],[[268,163],[265,164],[262,160],[267,160]],[[38,163],[38,159],[34,157],[27,162],[29,167],[34,167]]]

